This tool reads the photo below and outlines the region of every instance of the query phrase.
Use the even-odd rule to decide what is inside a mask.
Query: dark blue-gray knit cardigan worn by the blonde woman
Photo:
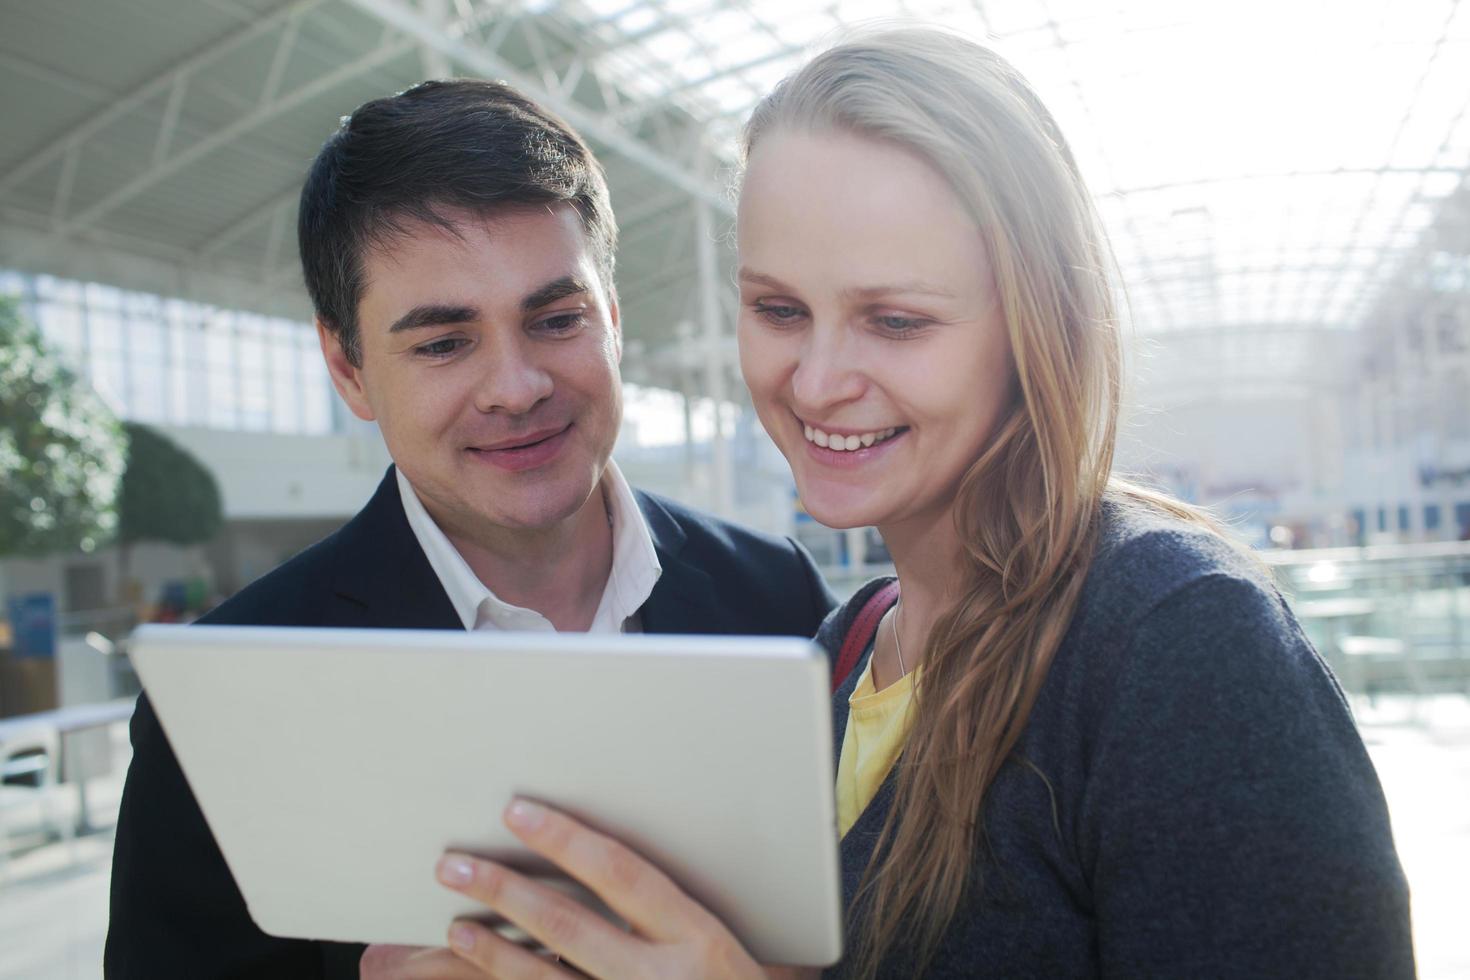
[[[878,585],[823,623],[833,657]],[[860,673],[833,696],[839,752]],[[889,773],[842,840],[848,907],[892,801]],[[1248,557],[1144,505],[1104,505],[982,824],[928,977],[1414,976],[1408,887],[1341,689]],[[900,951],[882,973],[913,965]]]

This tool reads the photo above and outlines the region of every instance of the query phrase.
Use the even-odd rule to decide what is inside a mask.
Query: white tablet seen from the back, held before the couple
[[[129,652],[256,924],[441,946],[514,795],[638,849],[763,962],[841,955],[828,661],[736,636],[144,626]]]

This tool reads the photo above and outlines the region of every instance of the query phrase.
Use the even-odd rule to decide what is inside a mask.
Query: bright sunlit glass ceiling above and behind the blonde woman
[[[673,103],[731,157],[754,101],[844,26],[907,15],[991,38],[1072,141],[1142,332],[1357,326],[1470,169],[1454,0],[528,6],[585,38],[635,97],[625,113]]]

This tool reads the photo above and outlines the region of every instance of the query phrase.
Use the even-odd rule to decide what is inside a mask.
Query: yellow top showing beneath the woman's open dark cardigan
[[[917,667],[914,669],[917,670]],[[914,671],[908,671],[882,691],[873,689],[873,658],[867,658],[847,699],[847,732],[836,764],[836,827],[842,836],[873,802],[878,788],[908,739],[913,724]]]

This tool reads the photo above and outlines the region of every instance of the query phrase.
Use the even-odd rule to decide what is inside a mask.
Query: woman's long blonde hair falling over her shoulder
[[[1108,489],[1120,398],[1111,259],[1055,120],[997,53],[889,29],[819,54],[745,126],[841,131],[935,167],[975,219],[1014,357],[1014,400],[954,505],[967,554],[932,624],[898,793],[853,902],[857,974],[932,961],[972,880],[985,793],[1067,632]],[[1182,505],[1125,488],[1173,513]]]

